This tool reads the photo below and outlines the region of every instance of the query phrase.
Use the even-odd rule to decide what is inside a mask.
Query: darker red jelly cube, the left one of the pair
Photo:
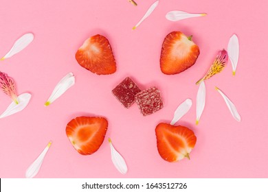
[[[140,91],[135,82],[130,77],[126,77],[118,86],[113,88],[112,92],[125,108],[129,108],[135,101],[135,95]]]

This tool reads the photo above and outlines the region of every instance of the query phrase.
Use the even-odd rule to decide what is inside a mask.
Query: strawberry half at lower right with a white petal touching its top
[[[197,137],[189,128],[159,123],[155,128],[157,149],[164,160],[176,162],[189,158],[189,154],[197,142]]]

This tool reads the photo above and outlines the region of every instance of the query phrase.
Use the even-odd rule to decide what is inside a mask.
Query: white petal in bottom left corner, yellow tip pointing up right
[[[36,160],[34,160],[32,165],[30,165],[30,167],[28,167],[28,169],[26,170],[26,173],[25,173],[26,178],[33,178],[39,172],[41,165],[43,163],[43,160],[45,158],[45,154],[47,154],[47,151],[48,151],[51,144],[52,144],[52,141],[50,141],[47,144],[47,146],[45,147],[43,152],[38,156],[38,158],[36,158]]]

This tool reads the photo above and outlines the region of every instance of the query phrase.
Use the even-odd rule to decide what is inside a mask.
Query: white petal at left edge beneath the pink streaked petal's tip
[[[8,106],[8,108],[0,115],[0,119],[3,117],[8,117],[9,115],[13,115],[16,112],[20,112],[21,110],[23,110],[27,106],[27,104],[29,104],[31,96],[32,95],[30,93],[23,93],[19,95],[19,104],[16,104],[12,101],[10,106]]]

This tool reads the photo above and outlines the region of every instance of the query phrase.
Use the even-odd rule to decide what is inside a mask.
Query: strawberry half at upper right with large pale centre
[[[191,67],[199,56],[199,47],[181,32],[171,32],[164,39],[160,68],[166,75],[174,75]]]

